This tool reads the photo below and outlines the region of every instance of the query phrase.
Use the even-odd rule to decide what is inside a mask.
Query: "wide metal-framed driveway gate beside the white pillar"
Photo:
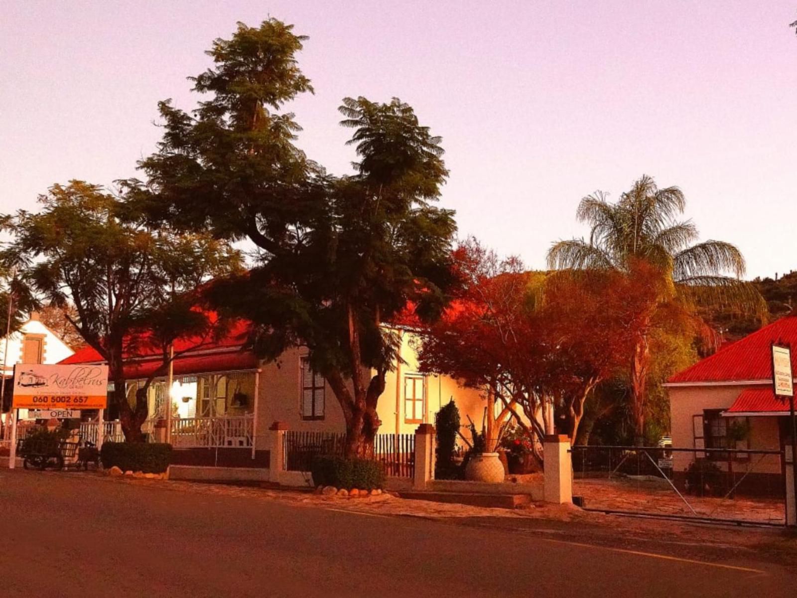
[[[782,450],[571,449],[584,509],[736,524],[785,525]]]

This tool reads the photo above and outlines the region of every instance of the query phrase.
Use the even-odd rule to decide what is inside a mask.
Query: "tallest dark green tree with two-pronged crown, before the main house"
[[[354,175],[307,159],[281,112],[312,91],[296,63],[306,39],[272,18],[216,40],[214,68],[192,79],[209,99],[191,114],[160,104],[163,140],[140,164],[147,183],[128,184],[154,222],[257,246],[251,272],[214,285],[218,308],[253,321],[261,356],[308,347],[344,412],[347,454],[363,455],[395,363],[386,324],[410,300],[434,317],[453,283],[453,213],[432,205],[448,173],[440,139],[397,98],[344,99]]]

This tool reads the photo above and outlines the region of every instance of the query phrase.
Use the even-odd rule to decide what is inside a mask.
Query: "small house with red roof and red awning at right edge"
[[[677,373],[665,384],[675,448],[736,448],[782,451],[791,443],[789,404],[775,397],[771,344],[797,348],[797,317],[783,317],[721,348]],[[797,351],[792,352],[797,372]],[[778,494],[783,487],[779,454],[675,452],[673,472],[707,457],[722,470],[748,472],[748,490]]]

